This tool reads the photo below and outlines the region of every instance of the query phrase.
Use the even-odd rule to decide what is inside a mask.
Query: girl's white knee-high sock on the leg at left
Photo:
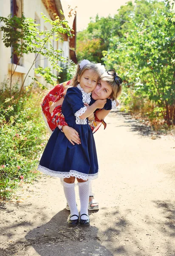
[[[65,192],[65,198],[68,202],[70,211],[71,211],[71,216],[76,214],[79,216],[79,212],[76,206],[76,197],[75,197],[75,183],[66,183],[63,181],[63,187],[64,187],[64,192]],[[71,220],[77,219],[76,216],[73,216],[70,218]]]

